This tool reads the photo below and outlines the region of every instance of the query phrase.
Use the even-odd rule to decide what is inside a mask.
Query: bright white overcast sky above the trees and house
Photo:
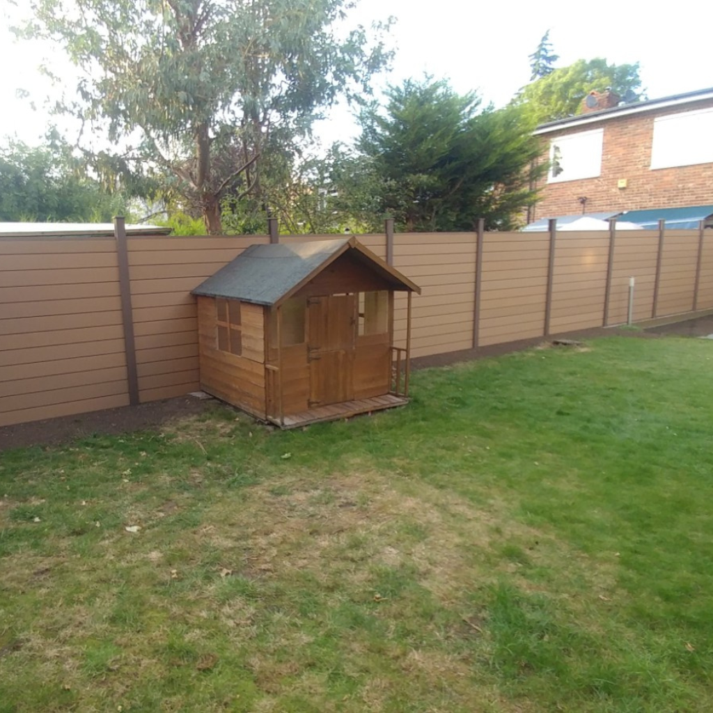
[[[17,0],[19,10],[24,0]],[[0,0],[6,6],[7,0]],[[397,48],[393,71],[376,85],[399,83],[428,72],[451,80],[461,93],[475,89],[484,103],[506,104],[530,77],[528,55],[550,29],[558,66],[603,56],[617,64],[639,61],[650,98],[713,86],[713,63],[705,28],[713,20],[713,4],[679,0],[674,5],[642,0],[600,0],[597,3],[510,0],[492,4],[466,0],[361,0],[352,21],[396,16],[391,41]],[[16,135],[38,143],[50,121],[47,96],[57,96],[37,70],[46,61],[55,70],[63,56],[50,46],[15,41],[0,15],[0,137]],[[71,76],[71,72],[62,72]],[[18,88],[30,97],[16,97]],[[65,91],[73,92],[68,83]],[[35,109],[31,108],[34,102]],[[54,119],[56,121],[56,119]],[[62,125],[62,124],[60,124]],[[325,143],[347,140],[356,129],[346,108],[318,129]]]

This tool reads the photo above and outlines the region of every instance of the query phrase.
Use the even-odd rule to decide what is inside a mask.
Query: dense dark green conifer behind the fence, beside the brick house
[[[384,111],[361,113],[357,146],[381,212],[406,231],[508,229],[535,200],[539,145],[518,108],[480,110],[445,80],[408,80],[386,93]],[[366,167],[364,167],[366,170]]]

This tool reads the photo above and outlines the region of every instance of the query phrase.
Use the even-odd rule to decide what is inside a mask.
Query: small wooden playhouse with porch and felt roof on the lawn
[[[193,290],[201,388],[282,428],[406,404],[413,292],[354,237],[252,245]]]

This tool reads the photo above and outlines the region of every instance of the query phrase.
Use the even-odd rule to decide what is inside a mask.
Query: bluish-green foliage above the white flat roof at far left
[[[45,145],[8,140],[0,148],[0,220],[108,222],[125,209],[124,196],[87,175],[56,134]]]

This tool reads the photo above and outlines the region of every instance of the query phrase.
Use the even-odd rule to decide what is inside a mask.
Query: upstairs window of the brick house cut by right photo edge
[[[651,168],[713,163],[713,109],[654,119]]]

